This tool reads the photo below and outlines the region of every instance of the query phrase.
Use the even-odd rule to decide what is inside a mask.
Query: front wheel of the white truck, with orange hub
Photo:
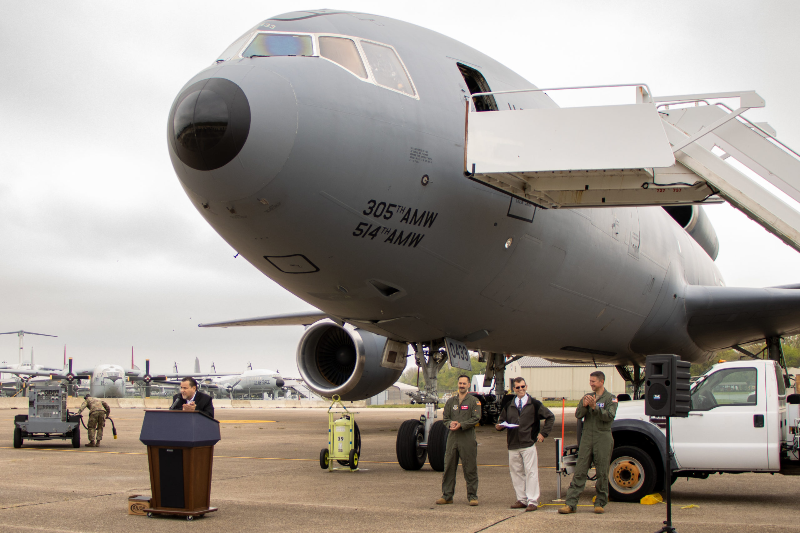
[[[608,467],[609,494],[618,502],[638,502],[653,492],[657,475],[653,459],[642,448],[616,447]]]

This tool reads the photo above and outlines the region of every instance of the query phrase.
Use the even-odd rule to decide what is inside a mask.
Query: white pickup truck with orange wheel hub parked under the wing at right
[[[714,473],[800,475],[800,395],[786,394],[770,360],[718,363],[692,385],[686,418],[670,419],[671,482]],[[611,427],[613,499],[638,501],[665,488],[666,420],[645,415],[644,400],[620,402]]]

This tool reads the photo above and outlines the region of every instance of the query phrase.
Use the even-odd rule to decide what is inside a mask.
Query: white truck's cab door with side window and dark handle
[[[722,367],[692,391],[688,418],[672,419],[681,468],[768,468],[766,381],[755,367]]]

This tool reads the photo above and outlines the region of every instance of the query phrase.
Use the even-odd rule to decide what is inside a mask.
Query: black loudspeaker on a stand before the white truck
[[[645,415],[689,416],[691,364],[680,355],[648,355],[645,359]]]

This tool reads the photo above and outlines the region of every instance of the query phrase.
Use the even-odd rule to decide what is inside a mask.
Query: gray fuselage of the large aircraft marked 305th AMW
[[[264,275],[391,339],[486,330],[467,346],[603,363],[642,363],[655,351],[706,358],[685,326],[670,329],[670,317],[686,285],[721,285],[722,277],[666,211],[534,211],[465,177],[470,88],[458,63],[491,90],[530,82],[454,39],[388,18],[286,15],[257,27],[394,46],[413,82],[403,90],[414,93],[299,56],[233,58],[186,84],[170,112],[178,178],[203,218]],[[235,157],[203,170],[178,156],[174,129],[187,94],[209,78],[238,86],[250,118]],[[234,130],[241,97],[218,85],[222,99],[232,95]],[[496,102],[497,112],[554,106],[540,93]]]

